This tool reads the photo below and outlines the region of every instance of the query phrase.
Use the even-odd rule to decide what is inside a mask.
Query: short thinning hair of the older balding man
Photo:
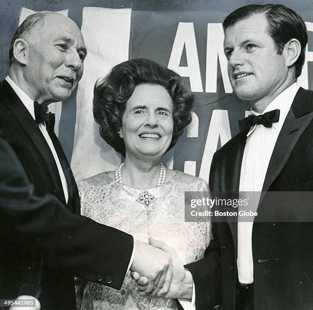
[[[25,39],[25,40],[30,40],[33,36],[33,34],[42,28],[43,23],[44,23],[44,17],[52,14],[59,14],[57,12],[52,12],[52,11],[41,11],[41,12],[36,12],[34,14],[31,14],[25,18],[23,23],[19,25],[17,28],[16,32],[13,35],[13,38],[11,40],[10,44],[10,49],[9,49],[9,58],[10,58],[10,65],[14,61],[14,56],[13,56],[13,47],[14,47],[14,42],[16,39]]]

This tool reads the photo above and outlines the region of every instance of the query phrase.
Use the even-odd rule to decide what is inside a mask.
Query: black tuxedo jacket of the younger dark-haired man
[[[273,202],[270,191],[313,191],[313,92],[298,91],[276,142],[258,205],[267,212],[297,220],[311,214],[313,195],[301,206]],[[210,189],[239,190],[247,131],[240,132],[214,154]],[[257,163],[256,163],[257,165]],[[267,193],[267,194],[266,194]],[[307,194],[307,193],[306,193]],[[275,211],[273,211],[275,210]],[[290,217],[289,217],[290,218]],[[234,309],[237,283],[237,223],[213,223],[221,258],[222,309]],[[313,224],[256,223],[253,225],[254,309],[309,309],[313,305]],[[210,249],[208,249],[210,251]],[[207,260],[207,263],[211,262]],[[196,278],[196,277],[195,277]]]

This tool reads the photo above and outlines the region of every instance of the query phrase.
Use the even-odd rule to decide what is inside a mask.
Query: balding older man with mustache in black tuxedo
[[[171,280],[167,253],[78,215],[47,106],[72,94],[86,53],[73,20],[35,13],[16,31],[0,83],[0,299],[32,295],[41,310],[76,308],[74,276],[120,289],[130,268],[151,291]]]

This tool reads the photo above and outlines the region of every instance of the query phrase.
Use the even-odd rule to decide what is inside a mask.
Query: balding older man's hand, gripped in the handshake
[[[152,291],[159,292],[161,287],[166,291],[169,290],[173,271],[171,256],[166,252],[136,240],[135,256],[130,270],[142,277],[139,283],[145,283],[146,294]]]

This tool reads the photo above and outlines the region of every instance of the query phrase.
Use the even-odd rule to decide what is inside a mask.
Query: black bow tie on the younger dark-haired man
[[[271,128],[273,123],[279,121],[280,110],[272,110],[261,115],[250,115],[239,121],[240,131],[248,130],[255,124],[261,124],[264,127]]]

